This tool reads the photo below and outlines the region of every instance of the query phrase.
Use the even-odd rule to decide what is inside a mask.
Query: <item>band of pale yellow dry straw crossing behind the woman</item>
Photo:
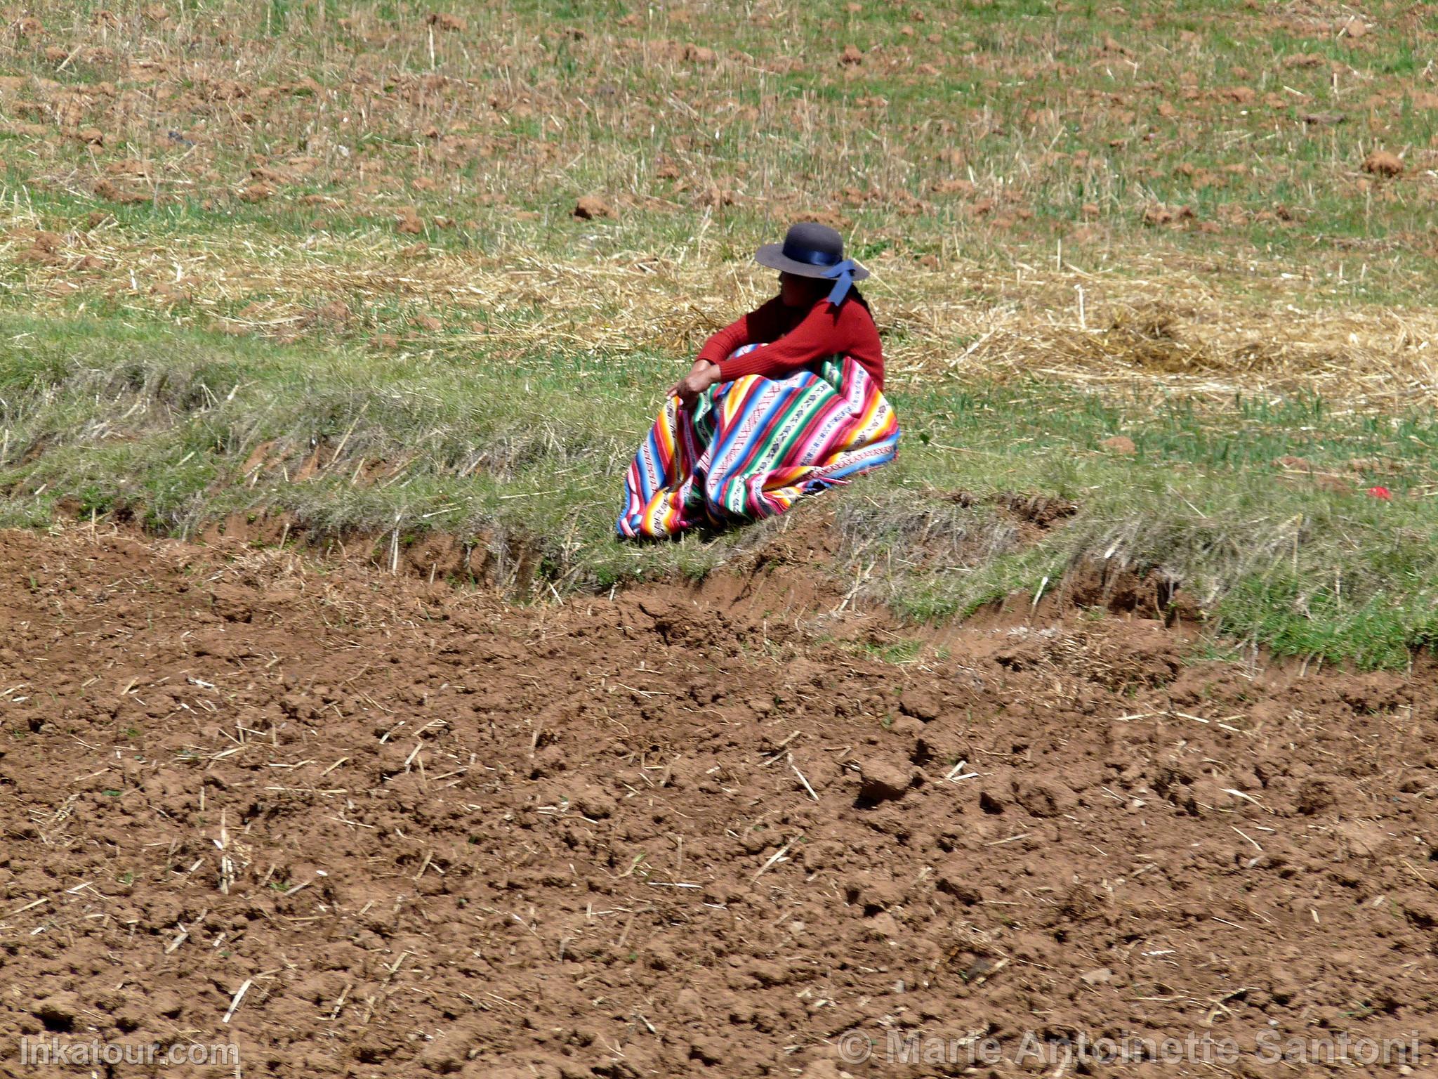
[[[26,252],[33,222],[6,227],[0,258],[10,260]],[[758,268],[707,255],[558,260],[518,243],[493,253],[401,247],[378,232],[285,245],[216,230],[177,250],[99,226],[59,237],[47,256],[24,268],[42,309],[86,288],[239,334],[397,328],[410,347],[483,342],[500,354],[683,355],[772,288]],[[1432,311],[1326,301],[1322,285],[1281,266],[1255,265],[1255,292],[1237,305],[1205,282],[1211,268],[1158,253],[1127,253],[1122,269],[1055,263],[876,260],[869,293],[894,377],[1034,375],[1214,397],[1316,391],[1360,409],[1438,403]]]

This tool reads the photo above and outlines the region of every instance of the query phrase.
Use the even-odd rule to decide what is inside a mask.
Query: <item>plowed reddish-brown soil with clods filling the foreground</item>
[[[1431,1037],[1431,662],[1248,669],[1024,610],[894,666],[837,606],[754,577],[515,609],[0,532],[0,1046],[812,1078],[963,1070],[887,1030],[989,1036],[978,1075],[1094,1070],[1014,1063],[1025,1032]]]

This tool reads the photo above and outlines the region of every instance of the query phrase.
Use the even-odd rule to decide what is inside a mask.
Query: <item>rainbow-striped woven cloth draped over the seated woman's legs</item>
[[[705,390],[692,410],[669,399],[624,478],[617,531],[660,537],[774,516],[897,450],[893,409],[848,357],[817,374],[743,375]]]

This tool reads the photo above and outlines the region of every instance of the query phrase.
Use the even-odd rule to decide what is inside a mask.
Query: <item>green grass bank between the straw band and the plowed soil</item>
[[[429,529],[521,544],[567,590],[703,575],[774,528],[614,540],[623,469],[674,365],[663,355],[397,360],[17,317],[0,321],[0,341],[7,524],[128,515],[196,537],[227,515],[283,509],[296,535],[362,535],[377,552]],[[893,397],[900,460],[818,501],[835,509],[843,547],[814,571],[863,574],[900,614],[963,616],[1106,554],[1182,581],[1221,633],[1278,653],[1391,666],[1438,633],[1431,411],[1334,414],[1311,396],[1218,407],[1041,381]],[[1114,433],[1137,453],[1103,452]],[[252,485],[244,462],[262,445]],[[1355,486],[1322,489],[1276,468],[1281,456]],[[299,479],[306,459],[321,468]],[[1395,499],[1366,495],[1370,483]],[[1002,506],[1009,492],[1077,512],[1025,544]]]

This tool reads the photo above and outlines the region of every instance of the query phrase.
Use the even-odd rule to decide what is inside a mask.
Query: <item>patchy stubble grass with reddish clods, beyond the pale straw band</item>
[[[676,10],[459,3],[466,29],[433,35],[431,9],[418,3],[345,6],[344,23],[329,6],[282,0],[171,6],[164,23],[116,9],[118,23],[106,27],[95,23],[102,7],[52,4],[40,33],[0,46],[10,70],[43,81],[0,102],[0,117],[56,127],[55,137],[19,137],[24,152],[7,158],[7,188],[23,186],[27,199],[85,197],[108,165],[139,160],[168,181],[157,209],[201,227],[213,217],[302,232],[316,209],[299,199],[325,191],[339,197],[322,210],[331,227],[355,232],[388,223],[404,204],[424,219],[467,219],[477,233],[515,227],[516,210],[538,213],[542,220],[519,232],[554,255],[569,237],[552,226],[578,194],[643,206],[643,223],[626,214],[604,229],[633,245],[692,235],[705,213],[695,196],[709,184],[738,194],[720,230],[741,247],[821,207],[838,207],[863,236],[919,253],[958,239],[966,255],[994,260],[1071,235],[1089,201],[1114,237],[1152,242],[1143,210],[1182,203],[1229,247],[1323,263],[1332,237],[1426,230],[1422,165],[1438,111],[1412,99],[1432,91],[1416,58],[1431,52],[1435,32],[1396,3],[1365,9],[1370,30],[1360,40],[1334,33],[1336,14],[1324,22],[1155,0],[1122,10],[1015,1],[863,4],[857,13],[825,0],[741,17],[703,1]],[[684,59],[690,43],[719,62]],[[863,50],[861,63],[838,62],[847,45]],[[75,55],[60,68],[47,47]],[[145,122],[116,129],[104,94],[55,119],[47,82],[150,85],[131,82],[127,58],[171,50],[187,63],[158,85],[177,92]],[[1319,62],[1290,66],[1296,56]],[[357,59],[377,72],[374,82],[352,79]],[[227,98],[217,106],[206,95],[237,69],[243,106],[223,106]],[[301,76],[321,89],[296,91]],[[436,82],[417,92],[416,79]],[[516,85],[525,91],[516,95]],[[266,88],[273,96],[260,96]],[[1252,99],[1232,96],[1247,92]],[[29,111],[16,114],[22,105]],[[1304,124],[1310,114],[1345,121]],[[102,147],[65,137],[86,125],[105,132]],[[459,144],[430,148],[431,128]],[[187,148],[168,140],[173,129],[200,138]],[[1362,177],[1373,147],[1408,154],[1402,184]],[[242,203],[257,155],[282,170],[298,157],[318,165],[266,203]],[[660,157],[680,164],[677,178],[656,174]],[[377,180],[362,183],[361,167]],[[953,176],[972,178],[974,190],[942,191]],[[433,184],[417,188],[417,178]],[[495,199],[476,203],[479,194]],[[915,199],[917,214],[906,204]],[[985,199],[998,210],[976,217],[972,207]],[[96,201],[122,220],[144,213],[144,204]],[[1264,217],[1280,203],[1293,222]],[[434,232],[452,242],[469,230]],[[1218,243],[1194,229],[1162,242],[1194,252]],[[1424,258],[1395,252],[1396,265],[1370,268],[1369,286],[1415,295]]]

